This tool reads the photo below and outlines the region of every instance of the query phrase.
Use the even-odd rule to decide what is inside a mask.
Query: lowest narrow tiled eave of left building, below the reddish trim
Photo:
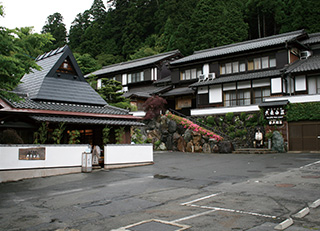
[[[65,122],[69,124],[105,124],[119,126],[144,126],[144,123],[135,120],[107,119],[107,118],[92,118],[92,117],[72,117],[72,116],[30,116],[32,119],[39,122]]]

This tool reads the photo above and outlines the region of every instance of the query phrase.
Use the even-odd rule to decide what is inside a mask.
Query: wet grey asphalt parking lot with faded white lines
[[[0,230],[320,230],[320,154],[154,161],[1,183]]]

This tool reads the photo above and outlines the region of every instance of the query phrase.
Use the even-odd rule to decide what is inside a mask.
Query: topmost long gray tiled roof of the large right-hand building
[[[228,55],[237,52],[244,52],[259,48],[266,48],[270,46],[285,44],[291,40],[298,38],[299,36],[305,34],[304,30],[294,31],[285,34],[274,35],[270,37],[265,37],[261,39],[249,40],[240,43],[234,43],[226,46],[220,46],[216,48],[211,48],[207,50],[201,50],[194,52],[194,54],[178,59],[171,62],[170,64],[181,64],[185,62],[195,61],[199,59],[212,58],[220,55]]]

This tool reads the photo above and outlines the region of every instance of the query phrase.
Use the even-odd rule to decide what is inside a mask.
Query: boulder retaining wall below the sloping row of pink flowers
[[[215,139],[209,139],[190,129],[185,129],[166,116],[145,123],[146,126],[139,129],[145,139],[153,143],[154,150],[203,153],[231,153],[234,151],[231,142],[217,142]]]

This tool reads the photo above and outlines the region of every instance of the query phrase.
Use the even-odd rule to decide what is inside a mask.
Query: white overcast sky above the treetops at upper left
[[[47,17],[58,12],[69,31],[77,14],[89,10],[92,3],[93,0],[0,0],[5,13],[0,17],[0,26],[9,29],[33,26],[34,32],[40,33]]]

